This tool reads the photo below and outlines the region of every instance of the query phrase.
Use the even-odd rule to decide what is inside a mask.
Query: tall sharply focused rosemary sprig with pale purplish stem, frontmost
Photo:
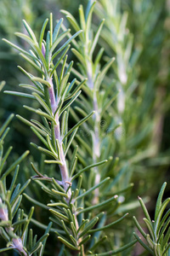
[[[91,19],[90,17],[91,11],[88,14],[88,20]],[[95,204],[92,203],[91,205],[86,205],[86,197],[95,189],[98,189],[107,183],[109,177],[105,177],[105,179],[101,180],[99,178],[98,182],[94,183],[94,186],[85,190],[81,189],[82,174],[91,168],[103,165],[106,160],[97,162],[95,159],[92,165],[85,166],[82,170],[78,168],[77,173],[75,173],[78,149],[75,147],[74,151],[70,153],[70,162],[66,161],[71,142],[77,133],[78,127],[88,120],[94,114],[94,111],[88,113],[83,119],[79,120],[70,130],[68,129],[69,107],[71,106],[71,103],[77,99],[77,96],[80,95],[80,88],[86,83],[87,79],[82,79],[81,82],[78,82],[77,79],[73,79],[71,82],[68,82],[72,61],[71,63],[66,64],[66,53],[70,48],[70,42],[82,33],[82,31],[80,30],[76,32],[76,34],[67,39],[64,44],[59,45],[59,43],[62,42],[62,39],[70,33],[70,30],[59,33],[62,22],[63,20],[60,19],[53,30],[53,17],[50,15],[49,31],[47,32],[46,40],[44,39],[44,32],[48,24],[48,19],[43,23],[39,41],[37,42],[37,38],[32,32],[31,27],[28,26],[24,20],[28,35],[20,32],[17,32],[16,35],[30,44],[31,49],[29,51],[21,49],[17,45],[4,39],[4,41],[12,45],[15,49],[20,50],[20,55],[28,61],[39,74],[38,76],[35,76],[31,73],[27,73],[26,70],[20,67],[20,70],[25,73],[33,83],[33,85],[20,84],[20,86],[31,90],[31,94],[16,91],[5,92],[36,100],[42,107],[36,109],[24,106],[33,113],[37,113],[42,118],[42,123],[38,120],[29,121],[20,115],[17,115],[17,117],[26,123],[26,125],[30,125],[31,130],[42,142],[43,147],[37,146],[35,143],[31,144],[51,158],[44,160],[45,163],[59,166],[60,180],[55,177],[48,177],[48,174],[44,175],[40,173],[33,163],[31,163],[31,166],[37,175],[32,178],[42,186],[42,189],[47,192],[49,197],[52,197],[51,202],[48,203],[48,210],[54,217],[50,219],[54,224],[57,224],[60,227],[60,230],[55,230],[55,233],[57,234],[58,240],[67,247],[65,250],[68,252],[71,250],[77,251],[80,255],[86,255],[88,253],[93,254],[96,247],[99,246],[100,241],[105,240],[105,236],[101,238],[99,235],[97,236],[99,231],[107,228],[104,221],[106,212],[102,212],[102,209],[105,210],[105,207],[114,207],[114,205],[116,207],[114,201],[117,200],[118,196],[111,195],[107,200],[97,201]],[[59,64],[61,64],[60,70],[58,68]],[[110,65],[108,65],[108,67],[110,67]],[[105,75],[108,67],[105,67],[102,76]],[[74,86],[74,84],[76,84],[76,86]],[[75,180],[77,181],[74,183]],[[42,181],[48,182],[48,185],[42,183]],[[38,201],[31,200],[28,195],[26,195],[26,197],[39,205]],[[47,209],[45,206],[44,208]],[[114,210],[112,212],[114,212]],[[121,221],[122,218],[116,220],[116,222],[112,222],[108,227]],[[97,223],[98,226],[96,228]],[[91,243],[87,243],[89,239],[91,239]],[[123,249],[132,246],[135,242],[136,241],[131,241],[125,247],[118,249],[118,251],[112,250],[105,253],[105,255],[121,252]],[[99,253],[99,255],[100,254],[103,255],[102,253]]]

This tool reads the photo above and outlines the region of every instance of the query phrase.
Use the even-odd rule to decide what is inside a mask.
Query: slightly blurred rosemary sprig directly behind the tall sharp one
[[[72,73],[79,79],[88,77],[86,86],[82,87],[83,94],[80,95],[80,100],[77,99],[76,111],[73,112],[71,110],[71,114],[78,121],[80,115],[85,116],[87,112],[92,111],[92,109],[95,110],[93,119],[89,119],[88,124],[82,126],[82,137],[79,134],[76,136],[77,143],[81,143],[81,148],[83,148],[78,154],[78,158],[82,166],[86,166],[87,161],[90,164],[92,159],[94,162],[104,160],[105,158],[108,159],[105,166],[95,167],[90,172],[90,178],[85,177],[86,183],[83,185],[87,189],[90,186],[96,186],[102,179],[107,178],[108,175],[111,177],[108,185],[95,189],[94,194],[88,197],[88,201],[92,201],[92,203],[106,201],[115,192],[120,195],[116,201],[116,207],[111,207],[107,212],[107,218],[104,219],[106,222],[108,219],[111,221],[115,218],[116,213],[126,213],[130,209],[130,205],[125,205],[125,201],[127,193],[133,187],[133,183],[129,182],[132,172],[127,172],[129,168],[127,163],[122,162],[122,169],[118,170],[118,173],[116,172],[116,166],[119,161],[118,157],[114,157],[116,152],[116,132],[121,128],[122,124],[120,123],[121,119],[116,117],[112,105],[120,90],[119,88],[116,90],[115,80],[113,81],[110,75],[106,78],[106,73],[115,65],[115,59],[105,58],[104,48],[99,49],[99,51],[96,50],[99,47],[99,35],[103,26],[105,26],[105,20],[100,21],[99,27],[94,32],[92,22],[95,4],[95,1],[93,3],[89,1],[86,12],[83,11],[83,7],[80,5],[80,24],[69,12],[62,10],[62,13],[66,15],[67,20],[70,21],[71,26],[76,32],[82,29],[82,33],[78,36],[79,40],[72,42],[74,48],[71,50],[76,55],[78,61],[77,68],[73,68]],[[101,65],[101,62],[105,60],[107,62]],[[112,118],[113,116],[115,119]],[[111,231],[111,229],[108,230],[108,233],[111,234]],[[119,241],[118,243],[122,243],[122,235],[120,236],[119,232],[115,231],[113,236],[116,241]],[[128,242],[128,238],[130,236],[125,238],[126,242]]]

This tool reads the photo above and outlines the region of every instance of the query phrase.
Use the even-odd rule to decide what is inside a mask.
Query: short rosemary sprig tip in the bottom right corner
[[[167,204],[170,201],[170,198],[167,198],[165,201],[162,202],[162,197],[164,190],[166,188],[167,183],[163,183],[160,193],[157,197],[156,201],[156,212],[154,220],[151,220],[149,212],[147,211],[146,207],[144,206],[144,201],[139,197],[139,203],[144,211],[144,223],[149,230],[149,234],[147,234],[138,222],[138,220],[133,217],[134,224],[138,228],[139,232],[142,236],[144,236],[144,241],[141,240],[136,233],[134,236],[139,241],[139,243],[144,247],[146,251],[148,251],[151,255],[154,256],[167,256],[170,253],[170,210],[168,209],[166,213],[164,213]]]

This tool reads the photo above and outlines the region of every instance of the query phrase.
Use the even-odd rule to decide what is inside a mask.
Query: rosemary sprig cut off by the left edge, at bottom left
[[[31,182],[31,179],[27,180],[21,187],[20,183],[16,184],[20,161],[26,158],[29,151],[22,154],[19,159],[8,167],[6,166],[6,161],[8,161],[8,155],[12,147],[9,147],[3,153],[4,139],[9,131],[8,124],[13,117],[14,114],[11,114],[0,129],[0,236],[6,242],[6,247],[1,248],[0,253],[14,249],[20,255],[32,255],[37,251],[39,251],[39,255],[42,255],[51,224],[48,225],[44,236],[37,241],[37,236],[33,236],[32,230],[28,230],[34,207],[31,207],[26,218],[24,210],[20,208],[22,193]],[[8,186],[6,180],[9,180],[9,174],[13,171],[14,175],[10,186]]]

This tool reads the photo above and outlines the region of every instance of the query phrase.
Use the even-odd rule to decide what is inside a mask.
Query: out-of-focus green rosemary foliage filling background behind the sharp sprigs
[[[82,96],[71,107],[72,115],[69,118],[69,128],[71,129],[71,126],[82,119],[85,113],[88,114],[94,110],[95,99],[98,102],[98,108],[95,110],[99,113],[99,119],[96,119],[97,115],[94,116],[94,119],[89,119],[88,123],[84,124],[80,133],[77,134],[76,140],[73,141],[73,146],[75,147],[78,143],[80,148],[77,169],[80,170],[82,167],[107,158],[109,161],[105,166],[95,167],[94,169],[95,172],[99,172],[98,180],[96,180],[94,172],[90,172],[90,177],[88,175],[83,176],[83,188],[89,189],[90,186],[95,186],[100,178],[110,176],[110,185],[100,190],[100,193],[103,193],[105,189],[105,194],[102,194],[103,197],[99,198],[99,200],[104,200],[104,198],[106,200],[115,193],[120,196],[120,201],[116,201],[116,212],[110,211],[110,220],[116,220],[115,213],[122,214],[133,211],[133,215],[139,215],[140,223],[142,213],[138,208],[137,195],[141,195],[143,198],[149,195],[154,198],[161,183],[165,180],[168,183],[169,180],[169,174],[166,171],[170,163],[170,125],[168,121],[170,115],[168,85],[170,1],[99,0],[96,2],[92,24],[89,20],[88,25],[86,25],[91,24],[91,29],[88,27],[88,36],[84,36],[83,32],[80,34],[76,40],[78,45],[71,45],[77,52],[74,49],[68,57],[69,60],[75,60],[73,67],[77,71],[71,73],[71,76],[74,77],[76,74],[78,79],[88,78],[88,86],[82,87]],[[94,1],[1,0],[0,38],[7,38],[12,43],[28,50],[26,42],[14,36],[14,32],[26,33],[21,20],[27,21],[38,38],[42,22],[50,12],[53,13],[54,20],[59,20],[64,16],[59,12],[60,9],[65,9],[73,15],[80,28],[84,29],[83,20],[80,19],[81,11],[78,11],[80,3],[84,8],[84,13],[88,14]],[[69,13],[65,13],[68,20],[65,19],[63,29],[70,26]],[[102,19],[105,19],[105,22],[100,23]],[[77,31],[77,26],[74,26],[73,23],[72,21],[71,35],[75,30]],[[56,25],[56,22],[54,25]],[[100,35],[98,32],[100,32]],[[96,33],[99,38],[95,38]],[[94,38],[96,44],[93,45]],[[103,57],[99,52],[101,47],[103,48]],[[115,61],[113,63],[109,62],[113,57]],[[110,68],[105,66],[108,62],[111,63],[111,67],[108,64]],[[23,81],[25,84],[29,83],[29,80],[17,69],[17,65],[37,76],[37,71],[31,65],[18,58],[16,49],[11,49],[3,41],[0,42],[0,80],[6,81],[4,87],[3,84],[0,85],[3,89],[16,90],[16,86],[23,83]],[[93,69],[91,77],[88,73],[89,68]],[[105,77],[99,77],[104,69]],[[90,89],[91,92],[88,88],[89,79],[92,79],[94,83],[97,81],[96,84],[103,79],[100,90],[96,91],[96,95],[94,95],[93,88]],[[27,92],[26,90],[22,91]],[[119,93],[113,101],[116,91],[119,91]],[[27,114],[27,119],[35,119],[35,113],[26,113],[26,110],[21,108],[21,105],[27,105],[28,102],[30,101],[26,98],[23,100],[16,96],[4,96],[1,93],[0,124],[3,124],[3,120],[7,119],[10,113],[18,113],[21,116]],[[31,102],[31,107],[39,108],[39,104]],[[104,108],[105,112],[102,112]],[[43,156],[40,157],[40,154],[30,147],[29,143],[31,141],[38,143],[38,140],[37,137],[32,135],[29,127],[18,119],[13,119],[11,126],[8,135],[8,140],[12,141],[14,146],[11,161],[16,160],[18,154],[23,154],[28,148],[31,150],[30,159],[37,162],[36,166],[38,166],[39,172],[42,174],[48,173],[48,177],[54,177],[54,166],[44,165]],[[96,132],[95,127],[97,127]],[[98,139],[99,143],[95,143]],[[98,150],[99,148],[100,150]],[[68,156],[70,159],[71,153],[69,150]],[[23,166],[22,178],[18,177],[19,182],[21,183],[24,177],[30,178],[32,175],[31,166],[26,162],[26,165]],[[89,181],[92,181],[92,183],[89,183]],[[74,185],[76,186],[76,184]],[[98,195],[99,191],[95,190],[95,193]],[[26,194],[27,197],[40,203],[39,206],[35,205],[34,211],[34,219],[37,219],[37,222],[36,220],[32,220],[32,222],[39,227],[43,224],[42,228],[47,229],[47,208],[44,207],[42,214],[39,209],[42,207],[41,203],[45,205],[48,203],[48,195],[42,191],[41,187],[37,187],[36,183],[31,183],[27,187]],[[94,195],[89,194],[87,198],[86,207],[90,206],[91,201],[93,202]],[[144,201],[149,202],[150,198],[145,197]],[[23,199],[26,212],[29,211],[31,205],[32,202],[27,203],[26,198]],[[154,207],[154,203],[150,201],[149,211]],[[136,213],[134,214],[134,212]],[[105,231],[105,236],[110,235],[110,240],[108,243],[104,242],[105,245],[101,246],[102,252],[109,249],[114,251],[122,244],[133,241],[134,227],[131,217],[131,214],[129,214],[129,217],[123,220],[123,224],[120,223],[109,231]],[[102,221],[105,223],[105,215],[101,218],[100,224]],[[126,230],[123,227],[125,221],[127,221],[128,227]],[[39,236],[42,236],[43,232],[40,228],[37,229],[37,232]],[[98,241],[97,239],[99,239],[99,236],[96,241]],[[51,241],[54,243],[55,238],[51,238]],[[93,247],[93,242],[90,247]],[[57,244],[58,246],[59,244]],[[1,241],[0,247],[2,247]],[[51,253],[59,252],[59,248],[50,249],[50,243],[47,248]],[[61,248],[62,250],[65,251],[64,247]],[[139,247],[136,250],[138,252]],[[135,254],[135,249],[133,252]],[[129,251],[117,255],[133,255],[133,253],[129,249]]]

